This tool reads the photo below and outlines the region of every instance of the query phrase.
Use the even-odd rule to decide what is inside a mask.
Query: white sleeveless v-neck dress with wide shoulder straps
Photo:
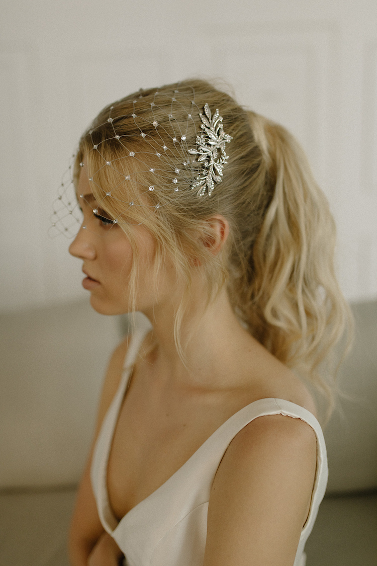
[[[146,499],[118,522],[107,494],[107,461],[119,410],[138,349],[150,325],[137,325],[125,357],[123,377],[97,439],[91,481],[103,528],[125,555],[127,566],[202,566],[207,534],[207,509],[216,470],[228,445],[249,422],[262,415],[287,415],[309,424],[317,437],[317,470],[310,512],[293,566],[305,566],[304,546],[313,529],[327,484],[327,457],[322,430],[306,409],[283,399],[259,399],[222,424],[200,448]]]

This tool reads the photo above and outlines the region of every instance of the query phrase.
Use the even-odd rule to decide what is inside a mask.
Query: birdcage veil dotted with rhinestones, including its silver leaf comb
[[[118,118],[123,117],[123,114],[116,114],[113,112],[114,106],[110,106],[109,114],[103,117],[103,123],[88,130],[87,134],[85,134],[88,136],[89,146],[90,142],[92,144],[92,148],[90,149],[89,147],[89,152],[98,152],[98,156],[103,161],[103,164],[99,165],[98,171],[88,171],[88,174],[90,174],[88,179],[90,186],[102,188],[103,196],[98,201],[98,207],[93,207],[93,215],[97,216],[106,226],[111,225],[111,221],[112,224],[123,224],[128,221],[122,217],[111,220],[111,217],[108,217],[107,214],[102,216],[102,203],[109,199],[115,198],[118,201],[118,205],[123,202],[124,213],[127,213],[132,208],[136,216],[135,220],[133,220],[131,214],[130,221],[141,223],[142,219],[137,215],[138,208],[142,207],[146,211],[149,210],[151,215],[173,198],[180,198],[181,195],[183,198],[189,197],[190,192],[192,195],[196,194],[197,198],[201,198],[206,193],[208,196],[211,196],[214,184],[222,182],[223,166],[228,158],[225,147],[232,137],[223,131],[223,118],[219,115],[219,110],[216,109],[212,116],[209,105],[205,104],[204,110],[202,110],[203,113],[201,113],[201,108],[203,107],[197,106],[194,89],[189,94],[175,90],[174,94],[172,93],[171,95],[171,105],[166,100],[166,97],[169,98],[168,94],[163,93],[161,96],[160,104],[155,104],[155,102],[159,102],[159,92],[157,90],[154,94],[154,102],[149,103],[150,115],[147,112],[148,108],[144,108],[147,102],[143,106],[143,101],[139,100],[142,96],[133,101],[133,107],[130,108],[131,112],[124,114],[126,118],[131,117],[138,131],[129,132],[129,134],[118,131],[117,121]],[[177,121],[174,114],[176,106],[173,106],[173,104],[178,105],[180,111],[182,109],[186,110],[187,120],[182,118]],[[142,119],[140,118],[140,113],[137,112],[138,105],[141,105]],[[159,121],[155,115],[155,107],[159,109]],[[197,119],[193,119],[193,112],[196,113],[197,117],[200,117],[201,130],[197,129]],[[167,119],[169,125],[165,123],[162,126],[160,122],[164,123],[164,120]],[[153,127],[152,134],[150,130],[146,129],[149,127],[148,122],[150,127]],[[108,138],[114,138],[120,144],[119,156],[116,159],[110,159],[106,151],[102,151],[104,141],[98,140],[98,136],[94,135],[97,127],[102,128],[103,126],[110,128]],[[192,141],[188,141],[189,135],[191,136],[189,133],[191,127],[194,128],[195,149],[189,149],[192,147]],[[157,132],[155,139],[153,139],[153,132]],[[122,135],[120,135],[121,133]],[[138,136],[143,136],[146,141],[143,152],[136,151],[136,148],[133,147],[132,141],[136,139],[136,136],[137,138]],[[167,142],[168,138],[170,138],[171,143]],[[151,143],[152,141],[153,143]],[[149,151],[148,145],[150,145]],[[161,168],[159,168],[158,162],[155,159],[149,160],[149,154],[161,159]],[[72,163],[63,175],[58,198],[54,201],[54,212],[51,216],[53,227],[51,235],[63,233],[67,237],[72,237],[76,233],[76,226],[80,226],[82,222],[72,175],[75,157],[75,155],[72,156]],[[132,160],[142,173],[148,173],[149,178],[146,179],[146,182],[144,180],[139,181],[135,173],[132,175],[128,174],[127,167],[124,170],[121,166],[123,159]],[[81,168],[84,167],[84,161],[81,161],[79,165]],[[125,165],[127,165],[127,162]],[[114,196],[112,192],[112,189],[116,189],[118,185],[114,187],[112,185],[99,187],[97,174],[102,170],[103,166],[106,166],[108,170],[111,169],[120,175],[121,178],[123,177],[124,182],[128,182],[132,177],[132,183],[128,183],[127,191],[134,189],[135,194],[131,193],[128,195],[126,191],[127,198],[122,200],[122,194],[116,195],[115,193],[116,196]],[[195,192],[191,191],[192,189],[195,189]],[[185,196],[184,192],[187,192]],[[149,196],[143,199],[145,194]],[[85,226],[84,228],[86,229],[87,227]]]

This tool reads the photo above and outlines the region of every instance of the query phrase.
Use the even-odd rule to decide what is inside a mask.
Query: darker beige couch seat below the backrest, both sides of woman
[[[68,566],[74,490],[0,495],[0,566]],[[327,498],[307,566],[377,566],[377,494]]]

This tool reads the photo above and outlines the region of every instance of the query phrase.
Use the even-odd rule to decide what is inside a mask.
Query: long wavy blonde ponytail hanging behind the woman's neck
[[[257,114],[249,118],[273,192],[238,307],[254,337],[314,382],[332,405],[330,354],[345,327],[352,328],[334,272],[335,223],[293,136]]]

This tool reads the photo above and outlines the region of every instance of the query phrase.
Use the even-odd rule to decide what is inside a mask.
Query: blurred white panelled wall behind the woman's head
[[[375,0],[7,0],[0,26],[3,311],[83,294],[47,228],[98,110],[193,75],[228,80],[298,136],[336,218],[343,290],[377,295]]]

